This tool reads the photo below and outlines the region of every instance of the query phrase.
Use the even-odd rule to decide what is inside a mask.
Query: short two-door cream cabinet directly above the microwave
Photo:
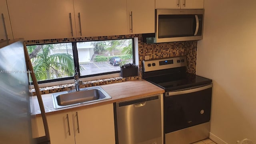
[[[204,0],[156,0],[156,9],[202,9]]]

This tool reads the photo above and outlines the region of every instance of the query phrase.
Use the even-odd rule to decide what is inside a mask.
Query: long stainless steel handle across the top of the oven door
[[[179,94],[188,94],[188,93],[192,93],[192,92],[198,92],[201,90],[205,90],[207,88],[212,88],[212,84],[206,84],[203,86],[194,86],[191,88],[184,88],[181,90],[176,90],[176,91],[172,91],[172,92],[167,92],[166,96],[174,96],[174,95],[179,95]]]

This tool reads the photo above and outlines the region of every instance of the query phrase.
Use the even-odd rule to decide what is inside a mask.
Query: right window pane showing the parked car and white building
[[[80,76],[120,71],[133,62],[132,39],[77,42]]]

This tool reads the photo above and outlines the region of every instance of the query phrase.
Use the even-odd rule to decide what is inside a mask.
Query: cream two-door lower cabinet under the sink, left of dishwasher
[[[115,144],[113,104],[49,115],[47,120],[51,144]]]

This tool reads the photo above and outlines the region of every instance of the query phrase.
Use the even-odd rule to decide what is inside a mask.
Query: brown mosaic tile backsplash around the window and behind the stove
[[[196,74],[196,53],[197,53],[197,41],[184,41],[184,42],[166,42],[158,44],[146,44],[142,42],[142,34],[130,34],[119,36],[98,36],[98,37],[82,37],[82,38],[63,38],[63,39],[48,39],[48,40],[27,40],[25,44],[44,44],[44,43],[56,43],[56,42],[73,42],[73,41],[92,41],[92,40],[111,40],[122,38],[134,38],[138,37],[138,51],[139,51],[139,66],[141,66],[142,60],[145,60],[145,56],[152,59],[167,58],[172,56],[187,56],[187,72]],[[111,84],[116,82],[124,82],[128,80],[138,80],[138,77],[130,78],[108,78],[104,80],[94,80],[83,82],[81,87],[98,86],[103,84]],[[61,86],[52,86],[47,88],[40,88],[41,94],[48,94],[60,91],[66,91],[74,89],[74,84],[66,84]],[[35,90],[32,89],[33,95]]]

